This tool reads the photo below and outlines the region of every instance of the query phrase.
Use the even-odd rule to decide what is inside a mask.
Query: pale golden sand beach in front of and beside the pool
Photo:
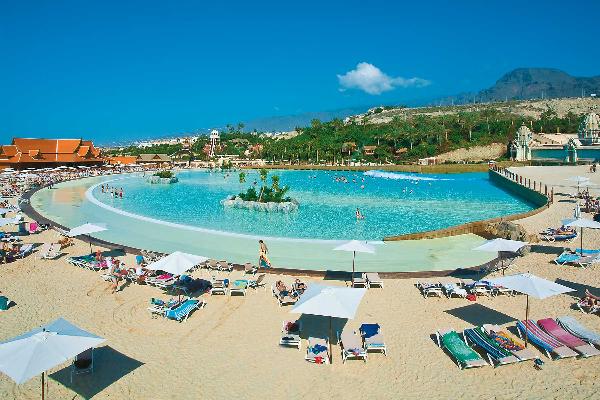
[[[574,167],[580,168],[580,167]],[[583,167],[584,168],[584,167]],[[578,170],[561,170],[566,177]],[[575,173],[576,172],[576,173]],[[554,170],[519,169],[519,174],[558,185]],[[557,195],[546,211],[522,224],[529,233],[556,226],[570,217],[574,203]],[[590,217],[589,215],[586,215]],[[24,237],[24,242],[54,241],[57,233],[46,231]],[[579,242],[568,244],[578,247]],[[600,248],[600,236],[585,233],[586,248]],[[540,319],[570,315],[600,332],[600,319],[573,307],[575,297],[590,288],[600,294],[598,266],[587,269],[557,266],[552,259],[563,244],[537,243],[532,252],[517,260],[509,273],[531,272],[577,289],[572,295],[532,300],[530,317]],[[314,278],[267,275],[267,289],[249,291],[246,297],[202,295],[208,305],[182,323],[152,318],[146,310],[152,297],[168,298],[151,286],[128,285],[111,294],[100,274],[74,267],[68,255],[89,252],[87,243],[76,240],[57,260],[39,260],[35,253],[23,260],[0,265],[0,290],[16,305],[0,313],[0,340],[6,340],[41,324],[64,317],[107,339],[95,351],[93,374],[76,376],[70,383],[70,365],[49,371],[50,399],[218,399],[237,398],[594,398],[598,391],[600,357],[551,361],[545,355],[541,371],[533,362],[476,370],[459,370],[453,359],[435,343],[441,328],[464,328],[482,323],[514,326],[524,319],[524,296],[464,299],[423,298],[415,288],[417,279],[386,280],[385,288],[368,290],[356,316],[336,321],[339,330],[357,329],[363,322],[377,322],[385,335],[388,355],[371,353],[367,363],[350,360],[342,364],[340,348],[333,346],[333,364],[315,365],[304,360],[302,349],[278,346],[282,321],[301,318],[306,338],[324,336],[328,320],[290,314],[279,307],[270,285],[296,277],[309,285]],[[124,257],[134,265],[134,256]],[[460,265],[457,265],[460,267]],[[226,276],[227,274],[221,274]],[[234,271],[235,279],[242,275]],[[498,275],[496,273],[494,276]],[[194,277],[209,279],[198,270]],[[477,276],[474,276],[477,278]],[[458,282],[458,278],[435,279]],[[345,285],[327,280],[327,284]],[[535,350],[538,352],[538,350]],[[0,398],[36,399],[40,379],[17,386],[0,375]]]

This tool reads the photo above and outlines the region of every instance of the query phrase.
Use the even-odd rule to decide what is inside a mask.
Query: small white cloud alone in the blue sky
[[[394,78],[366,62],[358,63],[355,69],[337,77],[340,91],[359,89],[374,95],[389,92],[398,87],[423,87],[431,83],[421,78],[402,78],[400,76]]]

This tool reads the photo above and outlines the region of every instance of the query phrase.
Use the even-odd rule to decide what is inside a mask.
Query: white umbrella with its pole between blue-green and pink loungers
[[[490,279],[492,285],[502,286],[526,295],[525,321],[529,319],[529,296],[536,299],[546,299],[557,294],[573,292],[575,289],[560,285],[533,274],[524,273]],[[525,346],[527,346],[527,324],[525,324]]]

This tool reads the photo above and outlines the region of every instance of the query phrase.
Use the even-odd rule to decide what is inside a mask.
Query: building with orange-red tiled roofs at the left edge
[[[100,149],[82,139],[14,138],[0,146],[0,168],[44,168],[61,165],[101,165]]]

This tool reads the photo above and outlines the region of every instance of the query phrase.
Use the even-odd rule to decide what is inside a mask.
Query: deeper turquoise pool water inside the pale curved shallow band
[[[184,171],[172,185],[151,185],[140,176],[110,182],[123,198],[93,196],[119,210],[154,219],[260,237],[381,240],[386,236],[446,228],[486,218],[529,211],[533,206],[494,186],[486,173],[416,175],[273,171],[297,212],[265,213],[224,208],[220,201],[254,182],[249,171],[240,184],[237,173]],[[269,178],[270,181],[270,178]],[[355,210],[365,216],[357,221]]]

